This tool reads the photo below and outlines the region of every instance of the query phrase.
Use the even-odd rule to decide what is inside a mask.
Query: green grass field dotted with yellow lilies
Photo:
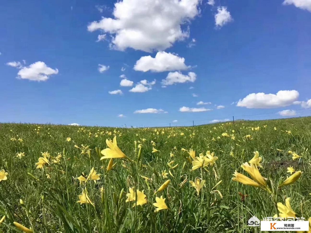
[[[119,149],[105,149],[114,136]],[[247,226],[252,216],[307,220],[310,148],[310,117],[137,129],[1,124],[0,231],[259,232]],[[232,180],[235,171],[253,181]],[[292,210],[282,208],[287,198]]]

